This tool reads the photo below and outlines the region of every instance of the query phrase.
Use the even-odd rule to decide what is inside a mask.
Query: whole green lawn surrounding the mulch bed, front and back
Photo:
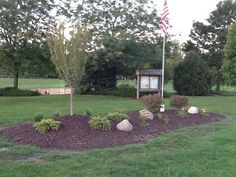
[[[236,97],[190,97],[190,104],[227,114],[208,125],[180,128],[146,144],[87,152],[52,152],[0,139],[1,177],[235,177]],[[83,96],[77,112],[140,108],[135,100]],[[168,100],[167,100],[168,102]],[[1,98],[1,125],[30,120],[38,111],[66,113],[65,96]],[[17,106],[16,106],[17,105]],[[28,116],[27,116],[28,115]],[[24,117],[28,118],[24,118]],[[7,122],[7,120],[9,121]]]

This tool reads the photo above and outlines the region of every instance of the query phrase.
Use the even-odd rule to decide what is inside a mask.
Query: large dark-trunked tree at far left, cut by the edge
[[[5,53],[5,62],[14,74],[14,87],[18,88],[18,77],[23,60],[20,48],[32,41],[45,39],[49,24],[53,23],[50,11],[53,0],[1,0],[0,40]]]

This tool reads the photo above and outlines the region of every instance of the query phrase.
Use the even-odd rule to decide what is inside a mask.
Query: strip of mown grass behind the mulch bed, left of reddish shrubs
[[[92,110],[97,114],[111,111],[137,110],[142,105],[131,99],[108,96],[75,96],[75,113],[85,114]],[[52,117],[53,114],[69,114],[69,95],[38,97],[1,97],[0,127],[24,121],[32,121],[37,114]]]

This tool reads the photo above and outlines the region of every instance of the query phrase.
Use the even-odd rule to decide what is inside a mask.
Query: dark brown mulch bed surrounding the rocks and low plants
[[[19,144],[32,144],[50,150],[82,151],[143,143],[169,130],[219,121],[224,118],[223,115],[217,113],[209,113],[208,117],[189,114],[187,118],[180,118],[173,110],[168,110],[165,114],[170,119],[168,124],[155,117],[146,127],[142,127],[139,123],[138,111],[129,112],[129,121],[133,125],[131,132],[117,130],[116,122],[112,122],[111,131],[94,130],[88,126],[88,116],[74,115],[60,118],[61,126],[58,131],[39,134],[31,123],[26,123],[0,130],[0,136],[5,136]]]

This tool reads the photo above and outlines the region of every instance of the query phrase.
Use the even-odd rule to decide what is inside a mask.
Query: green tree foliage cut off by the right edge
[[[236,84],[236,23],[234,23],[228,34],[225,45],[225,59],[222,66],[223,77],[228,84]]]

